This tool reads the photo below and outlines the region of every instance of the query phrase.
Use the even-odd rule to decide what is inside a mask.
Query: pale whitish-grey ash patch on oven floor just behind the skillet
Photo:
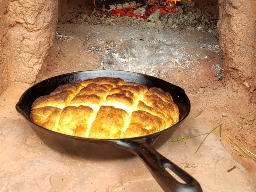
[[[154,33],[151,31],[150,33]],[[148,34],[150,34],[148,33]],[[103,69],[127,70],[139,73],[145,73],[152,76],[163,77],[164,71],[174,70],[174,68],[190,68],[190,72],[198,70],[192,67],[195,55],[185,50],[181,42],[168,38],[165,34],[159,34],[154,40],[150,40],[148,35],[141,37],[132,36],[127,33],[127,41],[122,39],[122,43],[117,47],[108,50],[104,54]],[[156,47],[159,47],[156,49]],[[205,44],[202,45],[208,49]],[[121,50],[121,51],[120,51]],[[140,50],[140,51],[138,51]],[[198,58],[204,58],[201,52],[198,52]],[[162,66],[163,70],[157,72],[156,66]],[[161,74],[159,74],[161,73]]]

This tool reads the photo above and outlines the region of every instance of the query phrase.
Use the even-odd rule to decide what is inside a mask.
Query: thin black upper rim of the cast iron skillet
[[[146,76],[148,78],[153,78],[153,79],[156,79],[156,80],[159,80],[159,81],[162,81],[162,82],[165,82],[167,84],[171,84],[172,86],[175,86],[175,87],[178,87],[181,89],[181,91],[183,92],[184,96],[186,97],[187,101],[188,101],[188,110],[186,112],[186,114],[176,123],[176,124],[173,124],[172,126],[162,130],[162,131],[159,131],[159,132],[155,132],[155,133],[151,133],[151,134],[148,134],[148,135],[144,135],[144,136],[140,136],[140,137],[132,137],[132,138],[122,138],[122,139],[93,139],[93,138],[84,138],[84,137],[76,137],[76,136],[72,136],[72,135],[66,135],[66,134],[63,134],[63,133],[58,133],[58,132],[54,132],[52,130],[49,130],[49,129],[46,129],[36,123],[34,123],[26,114],[24,114],[24,112],[22,111],[22,109],[19,108],[19,105],[20,103],[22,102],[22,99],[24,97],[24,95],[34,86],[36,86],[37,84],[41,84],[45,81],[48,81],[49,79],[53,79],[53,78],[57,78],[57,77],[60,77],[60,76],[65,76],[65,75],[73,75],[73,74],[78,74],[78,73],[82,73],[82,72],[92,72],[92,71],[109,71],[109,72],[128,72],[128,73],[133,73],[133,74],[136,74],[136,75],[142,75],[142,76]],[[121,78],[121,77],[119,77]],[[147,138],[151,138],[152,136],[156,136],[156,138],[162,134],[163,132],[167,131],[168,129],[170,129],[171,127],[175,126],[175,125],[178,125],[178,124],[181,124],[187,117],[188,117],[188,114],[190,112],[190,108],[191,108],[191,104],[190,104],[190,100],[187,96],[187,94],[185,93],[184,89],[181,88],[180,86],[177,86],[177,85],[174,85],[172,83],[169,83],[163,79],[160,79],[158,77],[154,77],[154,76],[150,76],[150,75],[146,75],[146,74],[142,74],[142,73],[137,73],[137,72],[132,72],[132,71],[123,71],[123,70],[86,70],[86,71],[76,71],[76,72],[72,72],[72,73],[66,73],[66,74],[61,74],[61,75],[58,75],[58,76],[53,76],[53,77],[49,77],[47,79],[44,79],[32,86],[30,86],[25,92],[23,92],[23,94],[20,96],[20,99],[19,101],[16,103],[15,105],[15,108],[16,110],[20,113],[20,115],[23,116],[23,118],[25,118],[26,120],[28,120],[30,123],[36,125],[37,127],[41,128],[41,129],[44,129],[44,131],[47,131],[47,132],[51,132],[53,134],[59,134],[61,136],[67,136],[67,137],[70,137],[70,138],[74,138],[74,139],[86,139],[86,140],[104,140],[104,141],[129,141],[129,140],[144,140],[144,139],[147,139]],[[31,110],[30,110],[31,112]]]

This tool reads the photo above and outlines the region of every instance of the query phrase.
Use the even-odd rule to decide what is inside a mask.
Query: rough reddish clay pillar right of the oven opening
[[[219,0],[220,48],[228,79],[244,84],[256,102],[256,1]]]

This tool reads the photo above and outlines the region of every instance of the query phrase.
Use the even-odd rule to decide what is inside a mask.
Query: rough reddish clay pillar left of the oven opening
[[[4,35],[10,49],[13,80],[33,83],[46,67],[57,25],[58,1],[8,0],[6,5],[8,30]]]

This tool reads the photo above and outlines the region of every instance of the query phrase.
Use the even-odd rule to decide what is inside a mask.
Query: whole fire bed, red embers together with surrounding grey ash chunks
[[[95,0],[94,3],[97,8],[90,15],[83,14],[72,22],[218,33],[218,14],[208,12],[207,6],[188,0],[147,0],[146,3],[143,0]]]

